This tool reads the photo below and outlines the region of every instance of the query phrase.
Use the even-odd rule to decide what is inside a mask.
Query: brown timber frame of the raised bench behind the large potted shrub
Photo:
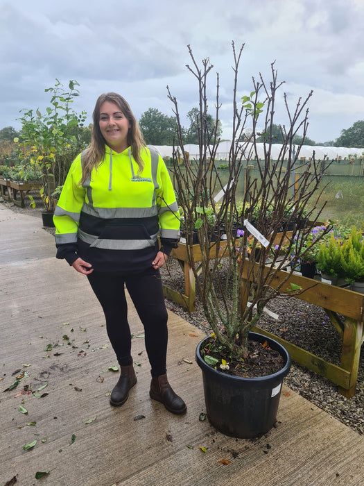
[[[225,247],[226,243],[224,245],[223,242],[220,242],[220,254],[223,254]],[[201,260],[199,245],[193,245],[193,256],[196,262]],[[193,312],[196,309],[196,281],[193,271],[187,262],[186,245],[180,243],[177,249],[173,249],[171,257],[178,260],[182,271],[184,271],[184,294],[164,285],[164,296],[184,306],[189,312]],[[268,267],[266,267],[266,271],[269,271]],[[275,276],[275,281],[278,284],[286,277],[286,271],[279,271]],[[302,294],[297,294],[295,298],[324,308],[329,316],[331,324],[336,328],[343,342],[340,366],[329,363],[313,355],[313,353],[281,339],[277,335],[268,333],[268,331],[257,326],[253,330],[272,337],[272,339],[283,344],[295,362],[336,383],[339,392],[344,396],[348,398],[353,396],[358,378],[361,345],[364,340],[364,295],[295,274],[289,278],[287,285],[289,286],[290,283],[300,285],[302,290],[304,290]],[[272,282],[272,286],[274,287],[274,281]],[[242,292],[244,292],[243,288]],[[344,319],[340,319],[339,315],[343,315]]]

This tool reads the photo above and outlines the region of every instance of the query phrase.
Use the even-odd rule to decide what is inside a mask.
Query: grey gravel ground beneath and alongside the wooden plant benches
[[[0,203],[15,212],[41,218],[42,208],[22,209],[1,198]],[[54,234],[54,228],[45,229]],[[162,269],[162,277],[167,285],[184,291],[183,273],[176,260],[172,258],[168,260],[168,266]],[[180,305],[168,299],[166,299],[166,306],[193,326],[209,334],[198,298],[196,312],[191,315]],[[283,337],[328,362],[340,364],[342,342],[322,308],[299,299],[282,298],[273,299],[267,307],[279,317],[274,319],[264,313],[259,321],[259,327]],[[356,394],[351,399],[338,393],[337,385],[294,362],[284,383],[346,426],[361,435],[364,434],[364,353],[361,354],[359,362]]]

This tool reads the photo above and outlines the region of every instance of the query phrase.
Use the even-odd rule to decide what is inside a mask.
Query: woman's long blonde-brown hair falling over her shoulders
[[[130,109],[129,103],[123,99],[120,94],[112,92],[104,93],[98,97],[94,112],[92,114],[92,119],[94,121],[94,126],[92,127],[92,139],[91,144],[84,154],[85,162],[83,162],[83,171],[80,184],[83,184],[87,178],[91,177],[92,169],[97,169],[98,165],[105,158],[105,138],[103,137],[99,126],[100,108],[105,101],[115,103],[117,106],[119,106],[121,112],[123,112],[123,115],[128,118],[130,123],[127,137],[128,146],[130,146],[132,156],[139,166],[138,174],[141,174],[144,169],[144,162],[140,153],[141,149],[145,148],[146,143],[144,142],[143,135],[141,135],[139,124],[133,115],[132,110]]]

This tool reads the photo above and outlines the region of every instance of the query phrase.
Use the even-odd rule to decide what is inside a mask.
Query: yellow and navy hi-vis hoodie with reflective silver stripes
[[[55,208],[57,258],[78,257],[98,271],[144,271],[161,248],[169,255],[180,237],[180,215],[164,160],[142,149],[144,169],[130,148],[105,158],[80,185],[81,155],[73,161]]]

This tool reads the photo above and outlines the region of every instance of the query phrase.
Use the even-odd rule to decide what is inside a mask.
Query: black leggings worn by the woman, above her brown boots
[[[120,366],[132,364],[125,283],[144,326],[150,372],[152,376],[166,374],[168,316],[159,270],[148,269],[141,274],[128,275],[93,271],[87,278],[102,305],[107,335]]]

